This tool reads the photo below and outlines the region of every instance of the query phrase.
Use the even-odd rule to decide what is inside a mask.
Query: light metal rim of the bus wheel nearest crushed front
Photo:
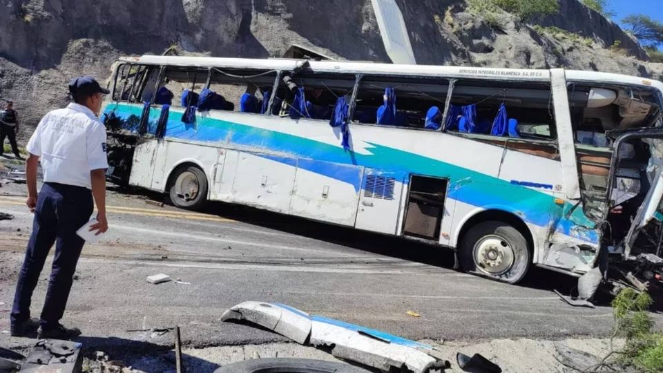
[[[506,273],[515,262],[510,243],[500,236],[484,236],[474,245],[474,262],[479,270],[493,276]]]

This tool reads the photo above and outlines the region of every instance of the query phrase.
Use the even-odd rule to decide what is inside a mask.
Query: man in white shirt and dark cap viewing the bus
[[[103,95],[108,90],[95,79],[78,77],[69,84],[73,102],[46,114],[30,137],[26,170],[28,207],[35,213],[32,235],[16,285],[11,314],[12,336],[34,332],[37,338],[69,339],[79,329],[59,323],[73,283],[76,264],[84,245],[76,231],[93,213],[97,220],[90,231],[108,229],[106,222],[106,128],[99,122]],[[41,162],[44,186],[37,196],[37,162]],[[39,321],[30,318],[30,298],[37,285],[50,247],[55,242],[48,291]]]

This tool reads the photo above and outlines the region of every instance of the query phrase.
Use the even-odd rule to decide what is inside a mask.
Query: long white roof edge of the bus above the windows
[[[155,56],[120,57],[119,61],[132,64],[159,66],[198,66],[231,69],[293,70],[302,59],[250,59],[225,57]],[[550,82],[550,70],[481,68],[465,66],[380,64],[358,61],[309,61],[312,70],[329,73],[362,73],[367,75],[419,75],[430,77],[477,77],[483,79],[521,80],[525,82]],[[655,79],[633,77],[595,71],[566,70],[566,78],[574,81],[603,82],[655,87],[663,92],[663,82]]]

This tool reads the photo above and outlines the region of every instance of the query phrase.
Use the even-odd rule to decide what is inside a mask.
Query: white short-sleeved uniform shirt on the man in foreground
[[[92,189],[90,171],[108,168],[106,127],[79,104],[46,114],[26,150],[41,157],[44,182]]]

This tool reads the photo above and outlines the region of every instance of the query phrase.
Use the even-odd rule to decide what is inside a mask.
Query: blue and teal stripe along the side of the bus
[[[106,113],[111,111],[125,119],[126,123],[133,124],[135,119],[140,117],[142,107],[111,104]],[[158,110],[152,110],[149,122],[158,119],[158,112]],[[354,153],[345,151],[340,143],[332,145],[305,137],[205,116],[196,117],[196,123],[192,126],[176,120],[178,119],[176,109],[171,111],[171,118],[173,120],[168,122],[165,137],[216,142],[219,146],[233,144],[233,146],[239,146],[238,151],[269,157],[269,159],[290,166],[296,166],[299,162],[302,164],[302,169],[348,182],[355,187],[356,191],[361,186],[359,181],[361,176],[357,178],[354,173],[340,168],[338,164],[350,168],[363,166],[395,173],[417,173],[449,178],[450,191],[452,191],[450,198],[483,209],[494,208],[510,211],[524,221],[539,227],[548,227],[553,216],[562,216],[556,227],[559,233],[586,242],[598,243],[599,230],[596,229],[594,222],[584,216],[582,209],[575,209],[570,218],[566,219],[563,217],[562,211],[556,210],[561,208],[554,204],[553,195],[454,164],[371,142],[367,142],[371,146],[367,148],[370,154]],[[329,131],[332,129],[329,128]],[[279,153],[279,155],[264,155],[261,153],[262,151]],[[333,164],[336,166],[332,166]],[[399,182],[404,180],[401,178]],[[573,205],[566,202],[563,211],[569,211],[571,208]],[[578,225],[586,229],[577,229]]]

